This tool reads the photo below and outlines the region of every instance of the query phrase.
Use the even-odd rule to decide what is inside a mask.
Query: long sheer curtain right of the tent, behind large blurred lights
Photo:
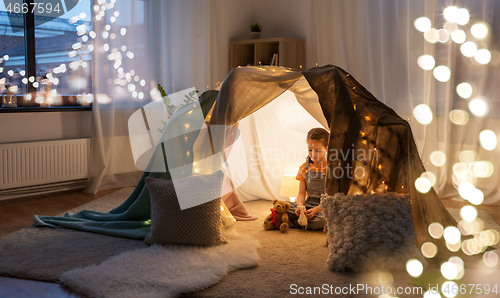
[[[334,64],[346,69],[380,101],[409,119],[421,158],[432,173],[426,178],[434,182],[435,177],[434,189],[439,196],[462,197],[477,203],[484,195],[483,204],[500,205],[496,186],[500,182],[500,160],[495,158],[500,133],[500,3],[316,0],[312,6],[313,59],[318,65]],[[447,23],[444,10],[449,6],[467,9],[469,21]],[[414,25],[419,17],[427,17],[432,28],[445,28],[446,32],[431,31],[424,38]],[[471,34],[476,23],[487,24],[486,37]],[[456,30],[462,30],[465,41],[474,42],[478,50],[488,49],[491,61],[481,64],[480,55],[476,55],[477,59],[466,57],[462,43],[451,38]],[[436,37],[444,42],[433,41]],[[432,56],[435,65],[427,70],[419,67],[417,61],[423,65],[424,60],[418,60],[422,55]],[[450,70],[448,80],[436,79],[438,66]],[[463,92],[460,96],[460,83],[472,86],[470,96],[463,98]],[[422,118],[430,114],[420,104],[432,112],[432,121],[426,125],[420,122],[426,123]],[[424,111],[417,112],[421,108]]]

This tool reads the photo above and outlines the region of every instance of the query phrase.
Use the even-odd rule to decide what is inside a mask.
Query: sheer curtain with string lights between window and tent
[[[95,0],[93,11],[89,193],[137,183],[142,173],[130,149],[128,119],[161,99],[158,83],[167,93],[202,92],[224,75],[216,55],[218,0]]]

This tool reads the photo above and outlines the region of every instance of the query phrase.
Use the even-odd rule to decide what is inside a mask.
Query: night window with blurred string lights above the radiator
[[[92,104],[91,0],[72,3],[0,1],[0,92],[18,107]]]

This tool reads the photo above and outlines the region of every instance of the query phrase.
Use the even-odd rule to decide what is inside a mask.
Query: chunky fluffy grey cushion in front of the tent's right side
[[[323,195],[333,271],[405,270],[411,258],[426,261],[415,245],[408,195]]]

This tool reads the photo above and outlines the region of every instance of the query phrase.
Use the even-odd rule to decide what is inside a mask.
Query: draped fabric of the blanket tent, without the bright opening
[[[190,113],[190,107],[180,109],[176,113],[178,117],[170,119],[164,135],[169,132],[174,136],[182,135],[183,144],[188,147],[186,154],[186,147],[183,147],[186,145],[179,145],[181,138],[162,137],[169,141],[159,143],[151,163],[168,160],[163,173],[145,172],[133,194],[109,213],[82,211],[65,218],[36,216],[36,224],[144,238],[150,218],[144,178],[154,175],[172,179],[174,167],[182,168],[182,177],[220,169],[226,157],[218,153],[231,145],[226,144],[231,139],[227,127],[264,108],[287,90],[317,123],[330,131],[327,194],[377,191],[409,194],[417,244],[435,241],[427,233],[433,222],[444,227],[456,225],[434,190],[422,194],[415,189],[415,180],[425,168],[408,122],[378,101],[349,73],[332,65],[303,72],[280,67],[233,69],[218,93],[207,91],[200,98],[203,117],[208,115],[205,118],[209,119],[208,126],[200,123],[189,134],[181,134],[182,127],[194,123],[188,117],[195,114]],[[193,167],[193,163],[200,166]]]

